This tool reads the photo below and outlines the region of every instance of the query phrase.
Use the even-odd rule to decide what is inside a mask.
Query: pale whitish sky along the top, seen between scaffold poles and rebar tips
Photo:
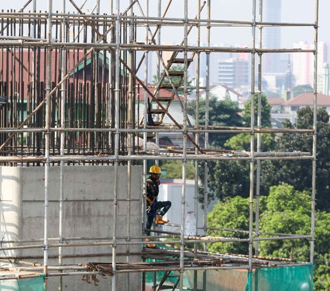
[[[78,6],[80,6],[85,0],[76,0]],[[157,3],[158,0],[149,1],[149,14],[157,16]],[[278,1],[278,0],[273,0]],[[15,9],[19,10],[26,3],[26,0],[12,0],[1,1],[1,9]],[[162,7],[166,6],[168,0],[162,0]],[[202,2],[202,0],[201,0]],[[37,10],[47,10],[47,0],[37,0]],[[53,11],[62,10],[62,0],[53,0]],[[93,8],[96,0],[87,0],[85,8]],[[109,13],[109,6],[111,0],[100,0],[101,12]],[[115,9],[116,0],[113,0],[113,6]],[[121,10],[124,10],[129,3],[129,0],[120,0]],[[140,0],[140,3],[145,11],[146,0]],[[197,10],[197,1],[188,0],[189,11],[188,17],[195,17]],[[74,8],[69,0],[66,0],[67,11],[74,11]],[[211,0],[211,18],[212,19],[226,19],[226,20],[252,20],[252,0]],[[168,11],[170,17],[183,17],[184,15],[184,1],[173,0]],[[258,9],[258,8],[257,8]],[[32,10],[32,3],[28,6],[28,10]],[[205,9],[206,10],[206,9]],[[325,41],[330,43],[330,1],[319,0],[319,41]],[[137,12],[139,13],[139,12]],[[202,12],[202,15],[206,17],[206,11]],[[315,21],[315,0],[282,0],[282,15],[283,22],[299,22],[299,23],[314,23]],[[182,32],[180,28],[163,29],[163,40],[179,42],[182,39]],[[205,34],[202,35],[201,41],[206,41]],[[203,39],[204,38],[204,39]],[[193,40],[192,40],[193,39]],[[192,39],[190,42],[195,41],[195,33],[192,32]],[[314,41],[314,29],[313,28],[282,28],[281,30],[281,42],[282,47],[292,47],[293,43],[298,41]],[[250,28],[212,28],[211,43],[225,43],[230,45],[251,43],[251,30]]]

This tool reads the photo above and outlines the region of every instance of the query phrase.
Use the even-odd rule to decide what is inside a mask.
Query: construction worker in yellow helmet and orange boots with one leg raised
[[[168,220],[163,219],[163,215],[170,209],[170,201],[157,201],[159,193],[159,177],[162,174],[157,164],[154,164],[149,169],[150,176],[146,179],[146,228],[151,229],[153,221],[155,224],[167,224]],[[150,235],[150,230],[146,230],[146,235]],[[151,239],[146,239],[150,241]],[[154,244],[147,244],[149,248],[155,247]]]

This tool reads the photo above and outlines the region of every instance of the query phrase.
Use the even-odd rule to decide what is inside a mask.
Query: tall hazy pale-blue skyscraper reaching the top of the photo
[[[263,21],[281,22],[281,0],[263,0]],[[274,49],[281,47],[281,28],[263,28],[263,48]],[[279,73],[280,54],[269,53],[263,55],[263,72]]]

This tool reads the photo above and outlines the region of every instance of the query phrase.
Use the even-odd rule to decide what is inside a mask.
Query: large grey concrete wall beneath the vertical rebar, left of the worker
[[[43,239],[44,236],[44,167],[0,167],[1,228],[4,240]],[[128,217],[126,201],[128,177],[127,167],[119,170],[118,237],[126,237],[126,222],[129,218],[131,237],[141,235],[141,196],[142,166],[133,166],[131,188],[131,216]],[[65,166],[64,168],[64,224],[63,237],[112,237],[113,236],[113,166]],[[50,167],[49,224],[48,237],[58,237],[58,213],[60,197],[60,169]],[[112,239],[111,239],[112,240]],[[77,243],[87,242],[76,241]],[[57,244],[58,241],[50,241]],[[74,243],[74,241],[69,241]],[[30,243],[31,244],[31,243]],[[38,244],[43,244],[43,241]],[[7,246],[7,245],[6,245]],[[141,246],[131,246],[133,252]],[[126,246],[118,246],[117,252],[126,251]],[[6,255],[34,256],[43,263],[43,248],[21,251],[5,251]],[[84,246],[63,248],[63,263],[76,264],[88,262],[111,263],[111,246]],[[58,248],[50,248],[49,265],[58,263]],[[109,254],[108,256],[102,256]],[[78,257],[78,256],[82,257]],[[124,262],[125,256],[118,256]],[[141,261],[140,256],[130,257],[131,261]],[[100,279],[98,290],[111,288],[111,277]],[[49,290],[57,290],[58,278],[52,277]],[[140,290],[140,274],[129,275],[126,288],[126,274],[118,276],[117,290]],[[80,276],[63,277],[63,290],[94,290]]]

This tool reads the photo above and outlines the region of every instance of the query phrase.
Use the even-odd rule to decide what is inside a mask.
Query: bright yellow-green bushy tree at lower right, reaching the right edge
[[[311,228],[310,197],[311,194],[307,191],[296,191],[289,184],[271,187],[265,211],[261,213],[260,231],[309,235]],[[330,288],[329,224],[330,213],[316,211],[314,290],[325,291]],[[261,241],[259,246],[261,256],[309,261],[310,241],[307,240]]]

